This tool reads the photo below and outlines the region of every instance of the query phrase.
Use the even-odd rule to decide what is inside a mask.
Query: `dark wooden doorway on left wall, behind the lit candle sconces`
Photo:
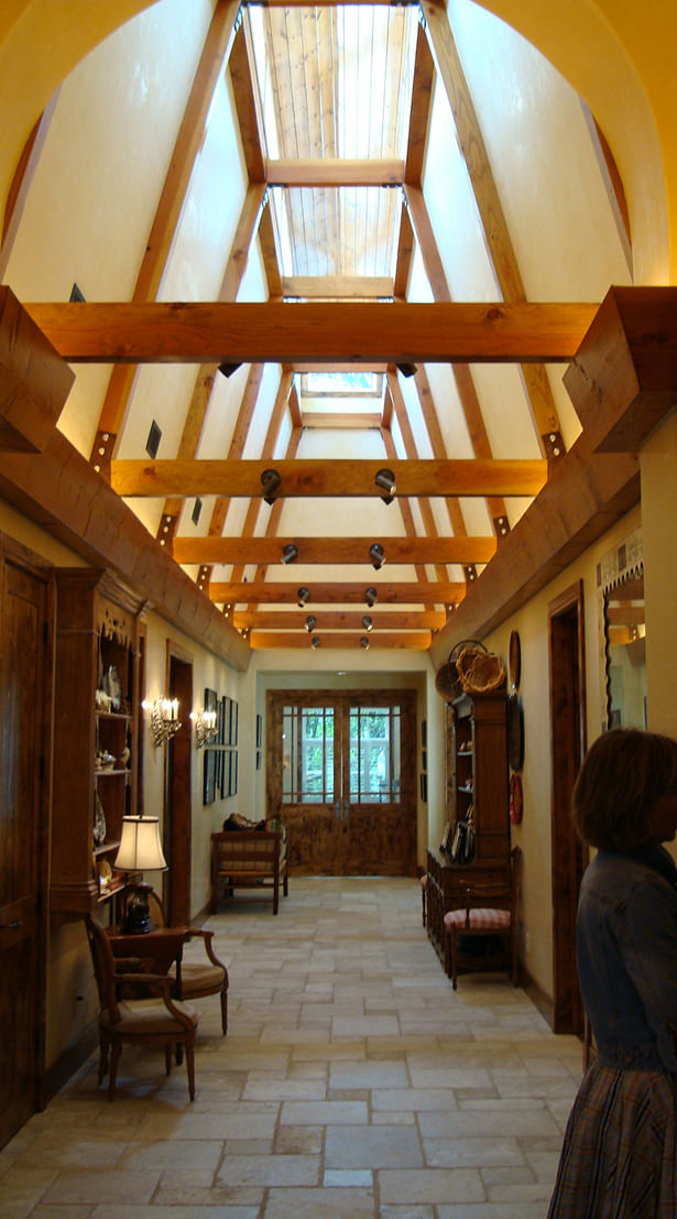
[[[167,640],[166,686],[170,698],[179,698],[181,727],[164,751],[163,846],[168,872],[163,897],[173,923],[191,918],[192,845],[192,655],[174,640]],[[178,761],[188,762],[185,783],[178,781]],[[183,845],[177,845],[178,842]]]

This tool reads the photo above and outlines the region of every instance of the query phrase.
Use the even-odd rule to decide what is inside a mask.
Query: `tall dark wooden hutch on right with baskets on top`
[[[427,852],[427,934],[440,956],[442,920],[461,904],[469,880],[505,883],[510,869],[507,700],[503,691],[463,695],[448,707],[447,797],[449,822],[472,806],[475,851],[468,863]],[[451,841],[451,839],[449,839]]]

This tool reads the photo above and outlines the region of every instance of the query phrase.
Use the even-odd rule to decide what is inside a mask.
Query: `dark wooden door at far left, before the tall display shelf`
[[[50,574],[0,539],[0,1146],[43,1103],[52,623]]]

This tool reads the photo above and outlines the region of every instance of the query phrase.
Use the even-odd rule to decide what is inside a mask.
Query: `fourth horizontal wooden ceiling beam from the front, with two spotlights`
[[[306,584],[308,588],[307,612],[317,605],[362,605],[367,608],[365,589],[375,588],[379,600],[377,605],[415,606],[446,605],[454,606],[465,596],[465,584],[437,584],[430,580],[425,584],[421,580],[396,580],[379,581],[365,577],[359,583],[326,580],[295,580],[291,583],[263,580],[218,583],[212,580],[209,585],[209,597],[218,605],[246,605],[250,601],[258,601],[262,605],[297,605],[298,586]],[[369,611],[371,613],[371,610]]]

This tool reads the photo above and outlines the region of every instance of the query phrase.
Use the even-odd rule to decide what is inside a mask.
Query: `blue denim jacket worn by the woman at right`
[[[576,939],[600,1064],[677,1073],[677,868],[667,851],[600,851],[581,885]]]

